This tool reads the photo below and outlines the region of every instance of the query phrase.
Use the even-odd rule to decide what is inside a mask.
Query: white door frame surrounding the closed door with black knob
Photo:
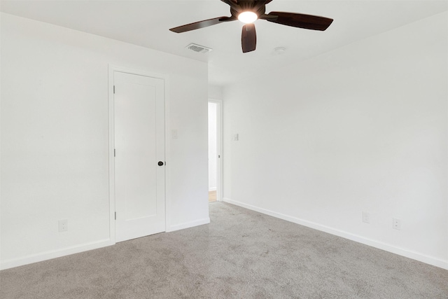
[[[165,99],[164,99],[164,145],[165,145],[165,231],[169,228],[169,203],[167,194],[168,181],[167,178],[169,173],[169,166],[166,161],[169,160],[169,139],[167,139],[167,132],[169,132],[169,94],[168,94],[168,84],[169,76],[164,76],[160,74],[154,74],[149,71],[144,71],[141,69],[129,69],[126,67],[119,67],[114,64],[109,64],[109,87],[108,87],[108,112],[109,112],[109,241],[110,244],[116,244],[116,221],[115,221],[115,211],[116,211],[116,198],[115,198],[115,160],[113,151],[115,148],[115,111],[113,103],[113,73],[115,71],[120,71],[122,73],[133,74],[138,76],[146,76],[151,78],[158,78],[164,81],[165,88]]]

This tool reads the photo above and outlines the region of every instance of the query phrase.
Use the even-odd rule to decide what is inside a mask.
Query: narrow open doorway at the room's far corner
[[[222,197],[222,149],[221,149],[222,102],[209,99],[209,202],[221,201]]]

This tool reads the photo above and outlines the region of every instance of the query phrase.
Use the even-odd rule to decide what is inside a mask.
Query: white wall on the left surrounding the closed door
[[[1,267],[111,244],[109,64],[168,76],[167,230],[209,222],[207,64],[2,14]]]

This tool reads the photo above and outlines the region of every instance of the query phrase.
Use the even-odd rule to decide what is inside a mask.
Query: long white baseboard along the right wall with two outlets
[[[441,260],[439,258],[434,258],[433,256],[427,256],[425,254],[418,253],[415,251],[409,251],[407,249],[402,249],[400,247],[393,246],[391,244],[386,244],[383,242],[379,242],[374,239],[368,239],[366,237],[354,235],[354,234],[351,234],[350,232],[345,232],[343,230],[337,230],[335,228],[330,228],[329,226],[321,225],[319,223],[314,223],[314,222],[307,221],[307,220],[304,220],[301,218],[296,218],[293,216],[288,216],[285,214],[277,213],[275,211],[270,211],[268,209],[262,209],[260,207],[255,207],[251,204],[245,204],[244,202],[238,202],[236,200],[231,200],[230,198],[223,198],[223,201],[228,202],[230,204],[235,204],[239,207],[244,207],[246,209],[258,211],[259,213],[262,213],[262,214],[266,214],[266,215],[280,218],[280,219],[283,219],[286,221],[304,225],[304,226],[307,226],[308,228],[314,228],[315,230],[321,230],[323,232],[328,232],[329,234],[332,234],[332,235],[337,235],[337,236],[343,237],[345,239],[350,239],[351,241],[355,241],[358,243],[362,243],[362,244],[365,244],[368,246],[375,247],[377,249],[382,249],[384,251],[395,253],[395,254],[398,254],[399,256],[405,256],[407,258],[412,258],[413,260],[419,260],[422,263],[427,263],[429,265],[441,267],[443,269],[448,270],[448,260]]]

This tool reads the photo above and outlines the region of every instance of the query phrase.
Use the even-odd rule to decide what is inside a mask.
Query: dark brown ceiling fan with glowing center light
[[[243,26],[241,34],[241,46],[243,53],[255,50],[257,44],[257,35],[255,33],[255,25],[253,22],[258,19],[267,20],[281,25],[299,27],[304,29],[324,31],[332,23],[332,19],[318,17],[316,15],[302,15],[301,13],[284,13],[280,11],[272,11],[268,14],[266,4],[272,0],[221,0],[230,6],[230,17],[218,17],[200,22],[194,22],[179,27],[174,27],[172,32],[181,33],[195,29],[209,27],[221,22],[230,22],[240,20],[246,23]]]

